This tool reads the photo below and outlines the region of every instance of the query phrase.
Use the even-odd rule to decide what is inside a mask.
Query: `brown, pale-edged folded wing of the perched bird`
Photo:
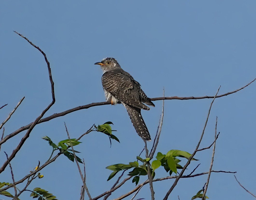
[[[125,104],[149,110],[150,108],[141,102],[140,92],[142,90],[139,89],[139,85],[131,75],[128,76],[127,74],[116,70],[105,72],[101,78],[104,90],[110,92],[112,96]]]

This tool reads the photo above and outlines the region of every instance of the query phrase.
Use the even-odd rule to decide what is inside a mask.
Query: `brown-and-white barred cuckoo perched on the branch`
[[[150,134],[142,118],[141,109],[150,110],[145,104],[152,107],[155,107],[155,105],[143,92],[141,85],[121,68],[115,58],[103,58],[101,62],[94,64],[100,65],[103,71],[101,82],[106,102],[111,102],[111,105],[122,103],[137,134],[144,141],[150,141]]]

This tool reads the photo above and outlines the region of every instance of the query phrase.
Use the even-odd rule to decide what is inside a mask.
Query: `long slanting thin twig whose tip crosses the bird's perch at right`
[[[220,87],[219,87],[219,89],[220,89]],[[185,166],[183,167],[183,169],[182,169],[182,171],[180,172],[179,176],[175,179],[173,185],[172,185],[171,188],[168,190],[168,192],[166,193],[166,195],[165,195],[165,197],[164,197],[163,200],[167,200],[168,196],[169,196],[170,193],[173,191],[174,187],[177,185],[177,183],[178,183],[180,177],[183,175],[183,173],[184,173],[184,171],[186,170],[187,166],[190,164],[190,161],[191,161],[192,158],[195,156],[195,154],[196,154],[196,152],[197,152],[197,149],[199,148],[199,145],[200,145],[200,143],[201,143],[201,140],[202,140],[202,138],[203,138],[203,136],[204,136],[204,132],[205,132],[205,128],[206,128],[206,125],[207,125],[207,121],[208,121],[208,118],[209,118],[209,115],[210,115],[212,103],[214,102],[214,100],[215,100],[215,98],[216,98],[216,96],[217,96],[217,94],[218,94],[218,92],[219,92],[219,89],[217,90],[216,95],[215,95],[215,97],[213,98],[213,100],[212,100],[212,102],[211,102],[211,105],[210,105],[210,108],[209,108],[209,111],[208,111],[208,115],[207,115],[207,117],[206,117],[205,126],[204,126],[204,129],[203,129],[203,131],[202,131],[201,137],[200,137],[200,139],[199,139],[199,142],[198,142],[198,144],[197,144],[197,146],[196,146],[195,151],[194,151],[193,154],[189,157],[187,163],[186,163]]]

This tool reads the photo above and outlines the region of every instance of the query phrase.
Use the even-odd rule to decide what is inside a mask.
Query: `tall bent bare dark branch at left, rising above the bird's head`
[[[15,33],[17,33],[16,31],[14,31]],[[29,134],[31,133],[31,131],[33,130],[33,128],[38,124],[38,121],[44,116],[44,114],[51,108],[51,106],[55,103],[55,95],[54,95],[54,82],[52,81],[52,77],[51,77],[51,68],[50,68],[50,63],[48,62],[45,53],[36,45],[34,45],[32,42],[30,42],[26,37],[24,37],[23,35],[17,33],[19,36],[25,38],[32,46],[34,46],[35,48],[37,48],[45,57],[45,61],[47,63],[47,67],[48,67],[48,73],[49,73],[49,79],[51,82],[51,93],[52,93],[52,102],[47,106],[47,108],[45,110],[42,111],[42,113],[36,118],[36,120],[31,124],[31,126],[29,126],[27,133],[24,135],[24,137],[20,140],[20,143],[18,144],[18,146],[13,150],[12,154],[9,156],[9,161],[11,161],[17,154],[17,152],[20,150],[20,148],[23,146],[23,144],[25,143],[26,139],[29,137]],[[7,135],[8,136],[8,135]],[[6,136],[6,137],[7,137]],[[5,137],[5,138],[6,138]],[[3,140],[5,140],[5,138]],[[3,140],[0,142],[0,144],[3,143]],[[5,140],[6,141],[6,140]],[[0,168],[0,173],[2,173],[4,171],[4,169],[6,168],[8,164],[8,161],[5,161],[4,164],[2,165],[2,167]]]

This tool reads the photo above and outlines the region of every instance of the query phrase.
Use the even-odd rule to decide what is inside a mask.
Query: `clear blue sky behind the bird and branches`
[[[101,69],[95,62],[114,57],[141,85],[148,97],[214,96],[236,90],[256,77],[255,1],[3,1],[0,6],[0,60],[2,122],[17,102],[24,101],[5,124],[5,135],[34,121],[51,102],[47,66],[42,54],[17,31],[38,45],[47,55],[55,83],[56,103],[45,114],[62,112],[80,105],[104,101]],[[255,83],[229,96],[216,99],[201,147],[213,141],[218,116],[214,170],[237,171],[238,180],[252,193],[255,177]],[[204,126],[211,99],[166,100],[164,124],[157,152],[170,149],[193,152]],[[142,111],[154,137],[162,110]],[[51,153],[47,135],[54,142],[66,139],[64,121],[71,138],[77,138],[92,124],[112,121],[121,144],[92,132],[76,146],[86,161],[87,184],[93,197],[109,190],[106,166],[128,163],[143,149],[122,105],[104,105],[79,110],[37,125],[22,150],[12,160],[15,180],[23,178]],[[22,132],[1,147],[11,154],[25,134]],[[150,143],[152,144],[152,143]],[[208,171],[212,150],[198,152],[188,167],[190,173]],[[182,162],[185,164],[185,160]],[[1,182],[12,182],[9,169]],[[41,171],[43,179],[30,186],[41,187],[58,199],[78,199],[81,179],[75,163],[60,156]],[[156,178],[168,174],[161,168]],[[182,179],[169,199],[191,199],[207,180],[207,175]],[[141,182],[140,182],[141,183]],[[155,199],[162,199],[173,180],[156,182]],[[128,181],[112,198],[135,186]],[[22,187],[22,186],[20,186]],[[253,191],[254,190],[254,191]],[[22,198],[27,198],[29,193]],[[233,174],[213,173],[207,191],[210,199],[251,199]],[[1,197],[3,198],[3,197]],[[137,198],[150,199],[145,186]],[[8,198],[3,198],[8,199]],[[127,197],[125,199],[131,199]]]

